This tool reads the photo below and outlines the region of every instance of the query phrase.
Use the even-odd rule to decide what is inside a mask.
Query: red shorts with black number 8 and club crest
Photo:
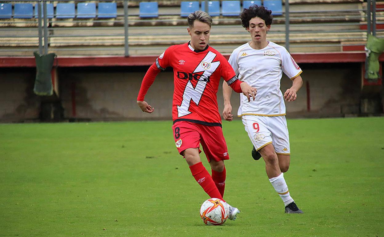
[[[188,121],[178,121],[172,126],[176,148],[181,153],[188,148],[203,147],[208,162],[228,160],[227,143],[223,136],[223,130],[219,126],[207,126]]]

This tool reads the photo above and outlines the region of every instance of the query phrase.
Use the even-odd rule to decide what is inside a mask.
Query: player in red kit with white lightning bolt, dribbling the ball
[[[226,171],[224,160],[229,159],[218,113],[218,83],[223,77],[237,93],[252,96],[256,89],[237,79],[232,66],[208,45],[212,18],[196,11],[188,18],[191,40],[172,45],[162,53],[147,71],[141,83],[137,104],[142,111],[152,113],[154,108],[144,96],[156,75],[171,66],[174,71],[172,103],[173,134],[180,155],[184,156],[195,180],[210,196],[223,199]],[[212,176],[203,166],[199,153],[202,145],[212,169]],[[240,210],[228,204],[229,219],[235,220]]]

